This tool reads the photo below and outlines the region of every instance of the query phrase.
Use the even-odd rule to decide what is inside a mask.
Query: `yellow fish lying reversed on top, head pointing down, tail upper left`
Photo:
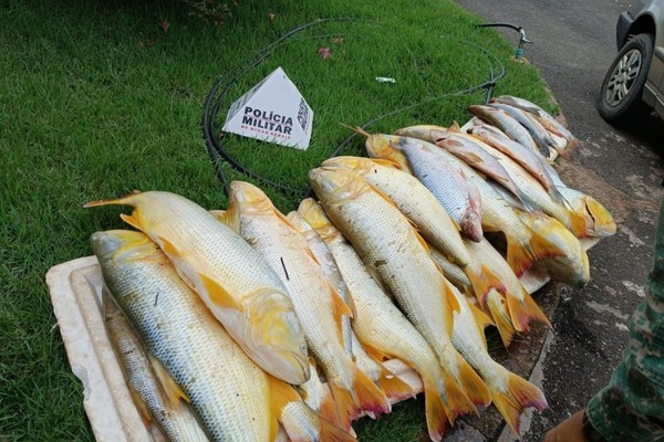
[[[292,385],[309,378],[307,343],[286,287],[242,238],[175,193],[149,191],[85,207],[133,206],[121,218],[170,259],[228,334],[263,370]]]

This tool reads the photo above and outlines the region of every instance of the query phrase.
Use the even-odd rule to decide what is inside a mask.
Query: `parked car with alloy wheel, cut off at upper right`
[[[664,119],[664,0],[636,0],[620,14],[618,55],[602,82],[600,115],[626,126],[653,109]]]

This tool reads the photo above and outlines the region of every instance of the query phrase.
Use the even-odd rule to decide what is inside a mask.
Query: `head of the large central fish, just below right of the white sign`
[[[366,181],[352,170],[319,167],[309,171],[311,187],[321,201],[341,204],[370,190]]]

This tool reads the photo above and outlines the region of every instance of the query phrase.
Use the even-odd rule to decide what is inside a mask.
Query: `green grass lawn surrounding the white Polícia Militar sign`
[[[318,18],[359,19],[310,28],[278,46],[221,106],[219,127],[232,101],[277,66],[286,70],[315,113],[309,150],[236,136],[225,146],[251,170],[293,188],[307,188],[307,171],[351,134],[341,123],[364,125],[408,106],[370,129],[467,120],[467,105],[485,94],[454,93],[497,67],[473,44],[506,67],[497,94],[551,108],[538,72],[510,61],[513,43],[476,29],[479,19],[450,1],[247,1],[224,27],[187,12],[175,1],[1,2],[0,440],[93,439],[44,275],[91,254],[91,233],[123,225],[117,208],[82,209],[89,200],[153,189],[225,207],[201,137],[203,103],[217,77],[279,35]],[[159,27],[165,20],[167,32]],[[321,46],[331,59],[320,57]],[[361,154],[360,137],[344,152]],[[297,207],[298,198],[266,191],[282,211]],[[400,406],[380,422],[361,422],[359,434],[416,440],[426,434],[422,408],[421,401]]]

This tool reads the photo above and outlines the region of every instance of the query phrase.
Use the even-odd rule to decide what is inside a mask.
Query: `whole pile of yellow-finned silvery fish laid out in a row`
[[[92,244],[108,336],[157,439],[355,440],[360,415],[416,394],[388,359],[422,378],[434,441],[491,403],[516,434],[547,407],[484,329],[509,346],[549,326],[520,277],[585,284],[580,239],[615,224],[551,167],[578,141],[549,114],[507,96],[470,112],[464,127],[362,131],[372,158],[325,160],[309,172],[318,199],[287,215],[243,181],[225,211],[162,191],[85,204],[134,208],[121,217],[137,231]]]

